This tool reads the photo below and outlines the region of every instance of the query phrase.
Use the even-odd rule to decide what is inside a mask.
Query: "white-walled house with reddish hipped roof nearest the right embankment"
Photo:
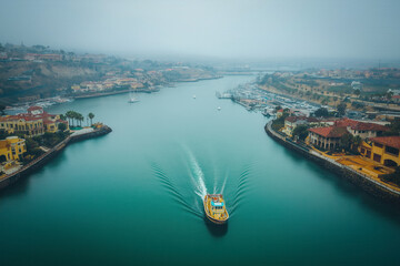
[[[309,129],[310,144],[324,150],[334,150],[339,147],[340,139],[349,134],[346,127],[324,126]]]

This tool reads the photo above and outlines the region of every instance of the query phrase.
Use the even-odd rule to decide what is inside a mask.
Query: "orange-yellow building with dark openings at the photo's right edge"
[[[362,156],[387,166],[400,164],[400,136],[378,136],[370,141],[370,143],[362,142],[360,146]]]

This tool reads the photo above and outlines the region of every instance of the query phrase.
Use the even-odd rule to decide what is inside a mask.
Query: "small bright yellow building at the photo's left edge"
[[[27,152],[26,140],[18,136],[9,136],[0,141],[0,162],[20,161]]]

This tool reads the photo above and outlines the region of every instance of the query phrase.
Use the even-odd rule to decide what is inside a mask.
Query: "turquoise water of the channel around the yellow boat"
[[[93,112],[113,132],[0,194],[0,265],[399,265],[398,209],[216,99],[251,79],[52,108]],[[223,193],[228,226],[204,222],[206,191]]]

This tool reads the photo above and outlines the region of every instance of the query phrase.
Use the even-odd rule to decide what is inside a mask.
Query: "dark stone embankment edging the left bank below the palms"
[[[6,175],[0,180],[0,191],[7,188],[8,186],[17,183],[22,177],[29,177],[29,175],[38,168],[44,166],[51,158],[56,157],[62,150],[64,150],[69,144],[106,135],[112,132],[111,127],[103,125],[101,129],[94,130],[92,132],[83,133],[80,135],[69,135],[66,140],[57,144],[54,147],[50,149],[44,154],[34,158],[27,165],[23,165],[20,170],[16,171],[12,174]]]

